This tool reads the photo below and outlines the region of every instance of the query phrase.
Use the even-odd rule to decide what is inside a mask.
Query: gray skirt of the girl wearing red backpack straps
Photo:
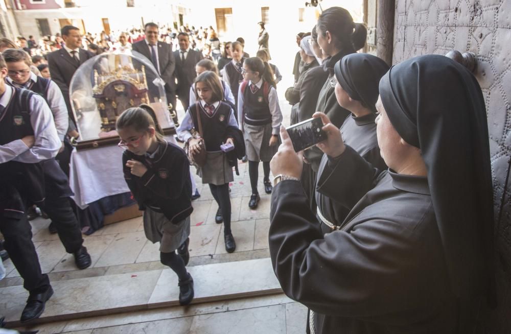
[[[243,137],[245,151],[249,161],[270,161],[277,153],[278,144],[270,146],[271,124],[248,125],[243,124]],[[280,138],[279,138],[280,144]]]

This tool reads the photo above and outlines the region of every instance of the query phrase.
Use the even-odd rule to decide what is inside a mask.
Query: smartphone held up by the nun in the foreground
[[[321,118],[310,118],[286,128],[295,152],[303,151],[327,139]]]

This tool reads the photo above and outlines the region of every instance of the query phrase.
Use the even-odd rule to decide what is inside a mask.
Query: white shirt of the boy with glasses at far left
[[[7,77],[6,80],[14,87],[32,89],[34,83],[37,82],[37,78],[38,77],[35,74],[31,73],[30,79],[24,84],[18,84],[17,82],[12,81],[12,79],[9,77]],[[53,113],[53,118],[55,120],[55,126],[57,127],[59,138],[61,141],[64,141],[64,137],[67,133],[67,128],[69,127],[69,115],[67,114],[67,107],[65,105],[62,91],[60,91],[59,86],[57,86],[57,84],[52,80],[50,80],[50,85],[48,86],[47,99],[48,105],[50,106],[50,109]]]

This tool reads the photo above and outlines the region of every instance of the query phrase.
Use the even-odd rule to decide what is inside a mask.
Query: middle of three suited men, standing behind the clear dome
[[[172,118],[177,123],[176,113],[176,77],[174,70],[176,62],[172,45],[165,42],[158,42],[158,26],[156,23],[146,23],[144,27],[146,38],[133,44],[133,51],[143,54],[154,65],[160,78],[165,81],[165,93],[167,102],[172,104]],[[150,81],[148,76],[148,81]],[[150,89],[151,87],[149,87]],[[151,90],[151,89],[150,89]]]

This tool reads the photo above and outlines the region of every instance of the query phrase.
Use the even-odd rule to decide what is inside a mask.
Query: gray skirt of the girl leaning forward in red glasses
[[[160,252],[173,252],[190,236],[190,216],[178,224],[172,224],[163,213],[146,207],[144,232],[153,244],[160,243]]]

